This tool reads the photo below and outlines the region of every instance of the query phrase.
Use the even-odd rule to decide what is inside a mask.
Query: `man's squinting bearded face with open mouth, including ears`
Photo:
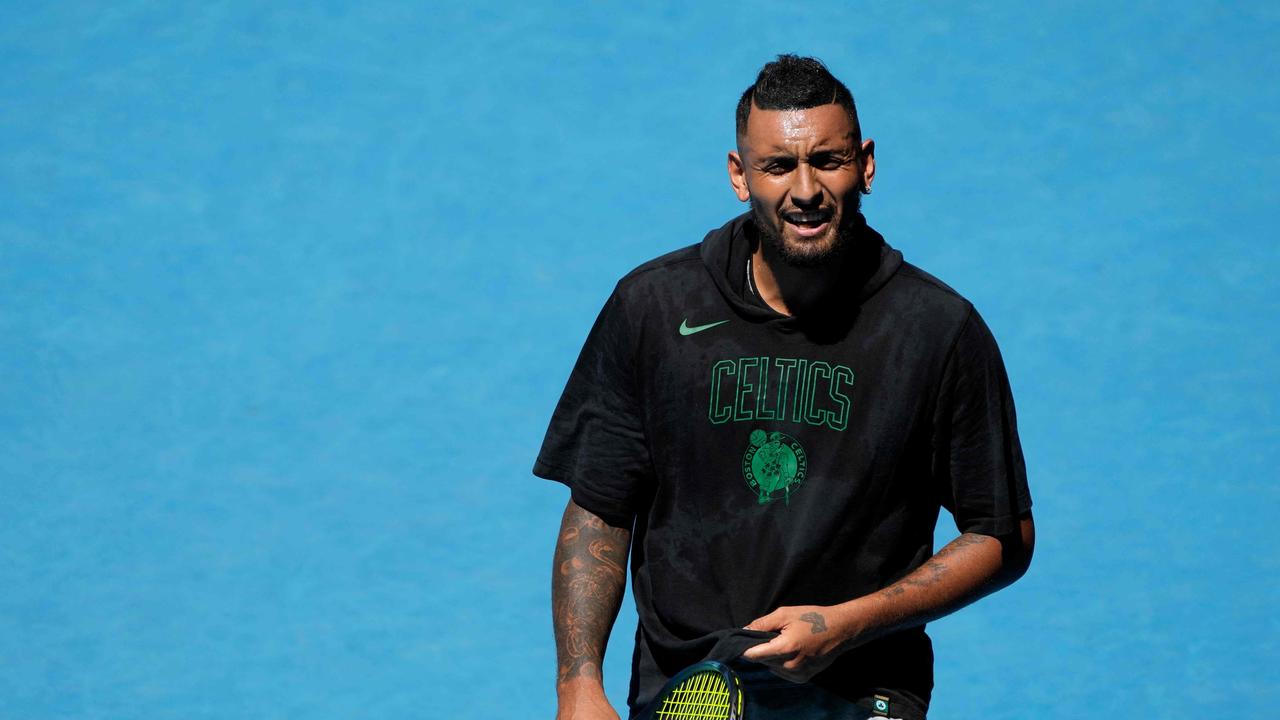
[[[750,200],[763,240],[783,261],[820,265],[842,246],[876,173],[870,140],[859,145],[840,105],[805,110],[751,108],[730,182]]]

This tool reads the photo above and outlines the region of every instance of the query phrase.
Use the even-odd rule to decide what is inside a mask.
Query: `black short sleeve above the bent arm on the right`
[[[934,413],[933,477],[961,533],[1005,536],[1030,510],[1014,396],[987,324],[970,310],[947,359]]]

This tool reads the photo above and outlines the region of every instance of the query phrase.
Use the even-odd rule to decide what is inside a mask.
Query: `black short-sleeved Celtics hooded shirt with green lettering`
[[[973,306],[861,225],[823,316],[746,287],[749,215],[618,282],[556,407],[539,477],[632,528],[640,618],[628,703],[790,605],[881,589],[933,553],[938,509],[1004,536],[1030,509],[1014,402]],[[923,628],[844,653],[814,683],[923,716]]]

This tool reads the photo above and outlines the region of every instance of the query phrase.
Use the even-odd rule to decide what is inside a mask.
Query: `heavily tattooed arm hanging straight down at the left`
[[[552,570],[558,720],[618,715],[604,697],[602,666],[626,583],[631,530],[614,528],[572,500],[564,507]]]

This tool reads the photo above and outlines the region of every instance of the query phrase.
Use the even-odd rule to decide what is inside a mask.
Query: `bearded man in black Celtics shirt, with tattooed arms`
[[[1030,560],[1000,351],[867,225],[874,143],[818,60],[760,70],[728,174],[750,213],[618,282],[534,466],[572,491],[559,717],[617,717],[600,660],[628,550],[632,712],[712,657],[754,719],[924,717],[924,624]],[[961,534],[933,553],[940,507]]]

